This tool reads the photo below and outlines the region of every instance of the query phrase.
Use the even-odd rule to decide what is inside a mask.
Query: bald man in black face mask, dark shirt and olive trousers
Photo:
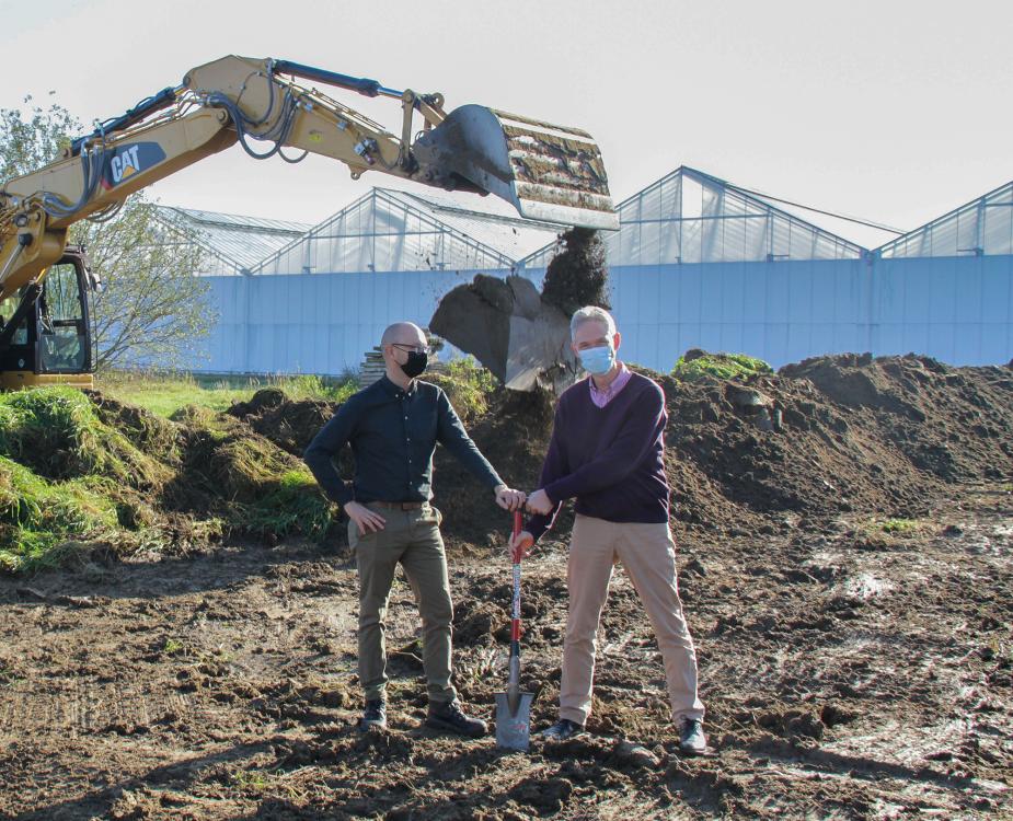
[[[381,340],[387,373],[341,406],[304,459],[327,496],[348,514],[348,542],[359,574],[359,681],[366,695],[362,729],[387,726],[383,618],[398,564],[415,591],[423,621],[423,666],[429,693],[426,725],[484,736],[485,722],[465,715],[450,681],[453,608],[439,511],[431,497],[433,452],[440,442],[506,510],[523,505],[475,447],[439,388],[416,379],[426,368],[426,337],[399,322]],[[347,484],[333,460],[348,442],[355,478]]]

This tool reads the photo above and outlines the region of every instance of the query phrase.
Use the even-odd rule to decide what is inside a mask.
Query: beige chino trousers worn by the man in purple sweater
[[[591,713],[598,622],[617,558],[647,611],[661,650],[672,719],[703,719],[704,707],[697,693],[697,650],[682,615],[676,545],[668,523],[617,523],[580,514],[574,523],[566,567],[569,614],[560,718],[583,725]]]

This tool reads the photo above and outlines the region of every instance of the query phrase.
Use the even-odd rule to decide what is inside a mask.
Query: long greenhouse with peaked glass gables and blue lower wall
[[[540,284],[561,235],[495,197],[428,189],[373,188],[312,228],[169,211],[211,252],[214,372],[354,370],[387,324],[427,325],[476,274]],[[845,351],[1013,358],[1013,183],[875,248],[842,220],[688,166],[618,212],[602,240],[630,361],[668,370],[689,348],[774,367]]]

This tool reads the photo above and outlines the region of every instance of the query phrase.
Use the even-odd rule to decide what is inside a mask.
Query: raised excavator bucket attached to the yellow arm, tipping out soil
[[[462,105],[412,150],[434,185],[495,194],[530,219],[619,228],[601,152],[587,131]]]

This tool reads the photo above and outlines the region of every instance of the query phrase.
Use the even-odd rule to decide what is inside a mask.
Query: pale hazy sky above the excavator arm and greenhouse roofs
[[[0,0],[0,107],[32,94],[84,123],[238,54],[585,128],[617,203],[686,164],[910,230],[1013,180],[1005,0]],[[398,101],[333,96],[400,130]],[[398,183],[233,147],[149,194],[316,223]]]

